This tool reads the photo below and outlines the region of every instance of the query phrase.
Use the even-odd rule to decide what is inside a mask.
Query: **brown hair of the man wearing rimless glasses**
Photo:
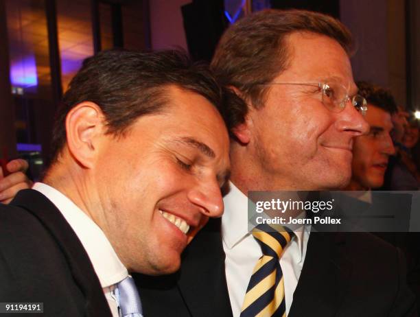
[[[351,55],[351,33],[340,21],[304,10],[263,10],[244,17],[222,35],[211,69],[224,86],[233,86],[255,108],[264,106],[267,87],[288,67],[287,36],[312,32],[333,38]],[[240,122],[244,122],[246,110]]]

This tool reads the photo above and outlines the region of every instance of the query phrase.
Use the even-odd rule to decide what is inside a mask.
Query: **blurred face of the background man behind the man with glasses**
[[[368,104],[366,113],[370,130],[356,137],[353,145],[351,188],[365,190],[381,187],[388,158],[395,153],[390,131],[393,129],[390,113]]]

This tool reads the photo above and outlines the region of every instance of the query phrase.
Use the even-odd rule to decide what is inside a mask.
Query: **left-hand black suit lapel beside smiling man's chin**
[[[210,220],[184,253],[178,288],[194,317],[232,316],[220,224]]]

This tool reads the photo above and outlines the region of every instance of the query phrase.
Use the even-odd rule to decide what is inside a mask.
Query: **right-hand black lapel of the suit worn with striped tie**
[[[339,233],[310,234],[289,317],[336,315],[351,275],[344,246]]]

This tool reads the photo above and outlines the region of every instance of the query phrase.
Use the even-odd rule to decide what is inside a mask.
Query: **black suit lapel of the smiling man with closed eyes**
[[[100,281],[80,240],[56,206],[42,193],[19,191],[11,202],[32,213],[62,248],[75,283],[86,298],[86,316],[110,316]]]

